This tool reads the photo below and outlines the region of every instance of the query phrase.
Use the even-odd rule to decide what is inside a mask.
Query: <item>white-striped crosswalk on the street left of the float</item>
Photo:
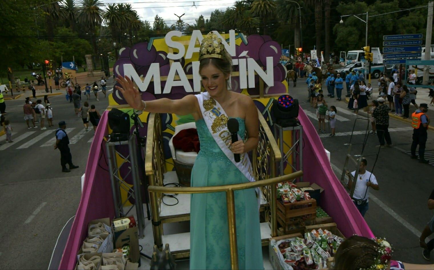
[[[69,137],[69,144],[76,144],[79,142],[92,143],[93,141],[93,128],[89,130],[85,128],[70,127],[65,129]],[[47,130],[23,130],[22,132],[13,132],[13,143],[5,143],[5,135],[0,138],[0,151],[8,148],[14,149],[28,149],[30,147],[53,147],[56,143],[55,137],[56,129]],[[89,138],[90,137],[90,138]]]

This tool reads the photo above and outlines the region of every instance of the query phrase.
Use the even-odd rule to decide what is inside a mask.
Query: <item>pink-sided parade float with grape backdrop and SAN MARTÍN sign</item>
[[[107,257],[116,257],[104,253],[112,254],[116,248],[124,254],[124,266],[130,262],[127,269],[149,269],[151,260],[157,260],[155,256],[162,253],[164,257],[164,252],[170,250],[165,256],[171,263],[164,269],[172,269],[175,260],[189,257],[190,232],[185,224],[190,220],[190,193],[225,191],[228,226],[234,228],[233,190],[260,187],[261,239],[263,246],[270,247],[264,265],[274,269],[297,268],[301,255],[310,269],[322,269],[343,238],[352,234],[373,237],[335,176],[315,128],[298,108],[298,102],[290,97],[286,69],[279,63],[280,45],[269,36],[246,37],[233,30],[215,33],[233,59],[228,88],[250,96],[259,112],[260,142],[249,153],[256,181],[188,187],[196,153],[184,152],[174,144],[179,141],[178,133],[195,127],[194,119],[167,113],[136,115],[115,88],[89,151],[82,197],[69,235],[66,233],[59,269],[75,269],[82,260],[98,261],[98,257],[102,258],[98,265],[101,266],[103,260],[112,260]],[[199,30],[191,35],[170,31],[148,42],[123,47],[113,73],[130,77],[143,100],[180,99],[200,93],[204,90],[198,73],[202,39]],[[281,128],[276,124],[273,106],[277,106],[275,100],[282,99],[291,103],[287,103],[289,107],[294,102],[293,106],[299,109],[294,117],[299,124],[295,127]],[[122,119],[128,119],[128,134],[115,137],[113,134],[122,126],[125,130]],[[89,239],[95,231],[101,234],[96,233],[100,242],[93,247],[92,257],[92,248],[87,249],[91,244],[87,242],[94,241]],[[227,259],[236,269],[236,236],[230,231],[226,236],[231,248]],[[323,246],[316,250],[312,237],[330,242],[318,242],[316,246]],[[298,250],[303,243],[310,249],[290,254],[290,259],[279,252],[288,247]],[[58,248],[63,246],[59,244]],[[150,260],[153,252],[157,255]]]

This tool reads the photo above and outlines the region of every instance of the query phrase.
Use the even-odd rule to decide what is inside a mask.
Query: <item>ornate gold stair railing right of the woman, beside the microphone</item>
[[[268,127],[267,121],[264,119],[261,112],[258,110],[259,115],[259,143],[256,150],[252,155],[253,174],[258,180],[266,180],[276,177],[276,162],[282,158],[276,140],[274,140],[273,133]],[[265,209],[266,220],[271,229],[271,235],[277,235],[276,224],[276,185],[263,186],[261,191],[268,202]]]

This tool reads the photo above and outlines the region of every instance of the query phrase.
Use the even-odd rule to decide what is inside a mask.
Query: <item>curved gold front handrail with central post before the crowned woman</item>
[[[274,177],[271,179],[232,184],[224,186],[213,186],[213,187],[161,187],[161,186],[149,186],[149,193],[213,193],[213,192],[226,192],[226,206],[227,206],[227,223],[229,228],[229,247],[230,247],[230,266],[232,269],[238,269],[238,248],[237,248],[237,227],[235,224],[235,200],[234,200],[234,190],[244,190],[255,187],[265,187],[272,186],[276,187],[276,183],[289,181],[301,177],[303,175],[302,171],[297,171],[288,175]],[[152,208],[152,211],[155,211]],[[157,216],[158,219],[158,216]],[[160,223],[161,221],[155,220],[152,216],[153,223]]]

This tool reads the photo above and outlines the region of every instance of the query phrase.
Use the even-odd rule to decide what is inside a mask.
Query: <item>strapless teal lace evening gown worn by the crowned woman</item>
[[[245,124],[238,134],[244,139]],[[193,169],[191,187],[247,183],[211,136],[203,119],[196,121],[201,142]],[[239,269],[263,269],[259,210],[254,189],[235,191]],[[226,193],[191,195],[190,269],[230,269]]]

